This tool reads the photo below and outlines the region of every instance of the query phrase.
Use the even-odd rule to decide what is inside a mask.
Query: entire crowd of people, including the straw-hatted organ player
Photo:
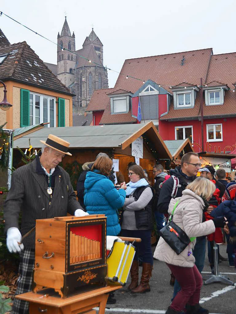
[[[77,181],[77,201],[68,173],[58,165],[65,154],[70,154],[67,152],[70,143],[51,134],[42,143],[42,154],[36,156],[31,164],[13,172],[12,185],[4,204],[7,247],[10,252],[20,253],[16,294],[32,290],[35,233],[32,232],[23,241],[22,235],[34,227],[36,219],[65,216],[67,212],[75,216],[105,214],[108,236],[142,239],[134,244],[136,254],[128,286],[131,293],[151,291],[149,279],[153,259],[158,259],[170,269],[170,284],[174,285],[173,298],[166,314],[209,313],[199,305],[206,244],[214,273],[212,243],[223,242],[223,229],[229,266],[235,266],[236,182],[231,182],[221,168],[216,171],[216,176],[211,165],[202,168],[199,155],[193,152],[183,155],[181,165],[169,173],[162,165],[154,165],[153,186],[151,178],[134,162],[127,165],[129,182],[125,182],[120,172],[116,173],[114,181],[112,160],[107,154],[99,153],[95,161],[82,167]],[[201,175],[197,176],[199,172]],[[19,230],[20,212],[22,223]],[[160,236],[153,255],[153,224],[161,234],[169,215],[188,237],[189,243],[177,253]],[[140,281],[139,257],[142,264]],[[220,259],[224,260],[219,254]],[[111,293],[108,303],[115,302],[114,293]],[[12,313],[28,313],[28,302],[14,299]]]

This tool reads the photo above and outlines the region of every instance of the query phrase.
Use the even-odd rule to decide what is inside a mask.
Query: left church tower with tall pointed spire
[[[57,77],[59,80],[69,86],[75,81],[76,55],[70,51],[76,51],[75,34],[72,36],[66,20],[62,27],[61,35],[57,35]]]

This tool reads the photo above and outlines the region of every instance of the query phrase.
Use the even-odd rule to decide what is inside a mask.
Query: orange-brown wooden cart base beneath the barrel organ
[[[96,314],[94,307],[99,307],[98,314],[104,314],[108,294],[120,288],[122,286],[107,286],[66,299],[33,292],[16,295],[15,298],[30,302],[30,314]]]

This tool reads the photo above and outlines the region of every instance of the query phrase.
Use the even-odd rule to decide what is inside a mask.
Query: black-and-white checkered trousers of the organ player
[[[20,252],[20,276],[17,279],[17,289],[15,295],[32,290],[32,277],[35,260],[35,250],[25,249]],[[29,302],[15,299],[13,300],[12,314],[28,314]]]

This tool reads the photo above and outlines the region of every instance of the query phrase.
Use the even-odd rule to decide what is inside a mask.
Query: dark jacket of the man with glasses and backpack
[[[176,176],[179,179],[179,185],[177,190],[176,197],[181,197],[183,190],[187,187],[187,185],[194,181],[195,176],[186,176],[181,170],[180,167],[176,167],[175,169],[170,170],[171,176]],[[160,196],[157,204],[157,210],[160,213],[167,214],[169,203],[171,201],[171,193],[173,190],[174,180],[170,177],[168,180],[163,183],[160,189]]]

